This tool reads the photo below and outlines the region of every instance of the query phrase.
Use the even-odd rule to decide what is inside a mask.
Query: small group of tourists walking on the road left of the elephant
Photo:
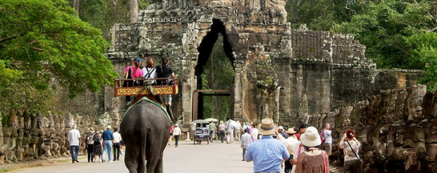
[[[70,143],[71,162],[79,162],[80,133],[73,125],[73,129],[68,132],[68,143]],[[113,162],[120,160],[123,155],[124,143],[121,139],[118,128],[111,131],[111,126],[107,126],[105,131],[94,131],[88,129],[85,141],[88,162]],[[98,160],[97,160],[98,158]]]

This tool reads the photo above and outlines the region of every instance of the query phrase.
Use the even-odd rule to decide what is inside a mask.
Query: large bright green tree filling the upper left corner
[[[56,85],[75,97],[117,76],[101,31],[65,0],[0,1],[0,25],[0,109],[42,110]]]

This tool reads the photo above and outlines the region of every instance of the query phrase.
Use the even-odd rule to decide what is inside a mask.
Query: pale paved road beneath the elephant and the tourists
[[[241,173],[252,172],[252,162],[242,162],[242,150],[235,142],[226,144],[220,142],[202,143],[193,145],[181,142],[178,148],[173,145],[167,146],[164,151],[164,172],[210,172],[210,173]],[[78,163],[58,163],[44,167],[16,170],[14,172],[32,173],[78,173],[78,172],[128,172],[123,159],[116,162],[88,163],[86,159],[80,159]]]

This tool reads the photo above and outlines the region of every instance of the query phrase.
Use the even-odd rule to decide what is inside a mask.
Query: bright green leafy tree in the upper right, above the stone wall
[[[369,3],[362,13],[333,27],[334,32],[352,33],[367,46],[366,55],[379,68],[423,68],[412,56],[405,37],[437,28],[434,1],[384,0]]]

